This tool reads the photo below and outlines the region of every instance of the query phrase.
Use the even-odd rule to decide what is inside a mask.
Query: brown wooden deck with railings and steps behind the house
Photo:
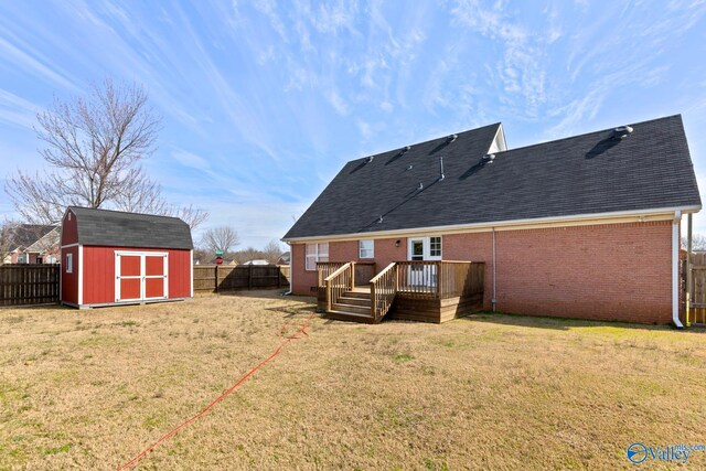
[[[395,263],[367,286],[351,279],[355,270],[351,263],[329,263],[324,269],[327,276],[320,272],[319,277],[318,301],[330,319],[376,323],[387,317],[441,323],[483,307],[482,263]]]

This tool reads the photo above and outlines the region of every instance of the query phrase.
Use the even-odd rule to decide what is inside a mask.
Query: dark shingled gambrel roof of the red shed
[[[192,249],[189,225],[179,217],[68,206],[78,244],[109,247]]]

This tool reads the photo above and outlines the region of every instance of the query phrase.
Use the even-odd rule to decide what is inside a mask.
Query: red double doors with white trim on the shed
[[[168,272],[167,253],[116,251],[116,302],[165,299],[169,295]]]

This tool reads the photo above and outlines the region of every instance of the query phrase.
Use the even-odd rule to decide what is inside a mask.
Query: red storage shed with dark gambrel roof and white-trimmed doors
[[[69,206],[62,303],[77,308],[193,297],[191,229],[178,217]]]

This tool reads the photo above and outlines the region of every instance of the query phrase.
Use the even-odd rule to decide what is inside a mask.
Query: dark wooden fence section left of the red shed
[[[58,302],[60,265],[0,266],[0,306]]]

